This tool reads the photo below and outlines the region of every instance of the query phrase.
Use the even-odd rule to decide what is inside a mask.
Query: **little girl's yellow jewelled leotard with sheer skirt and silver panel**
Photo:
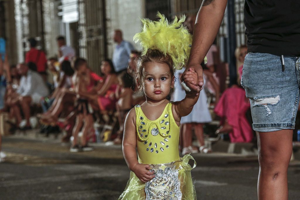
[[[196,199],[190,174],[196,163],[192,168],[188,161],[193,157],[179,157],[179,126],[172,114],[172,104],[169,102],[154,121],[145,116],[140,105],[135,106],[138,160],[150,165],[155,178],[143,183],[131,172],[119,200]]]

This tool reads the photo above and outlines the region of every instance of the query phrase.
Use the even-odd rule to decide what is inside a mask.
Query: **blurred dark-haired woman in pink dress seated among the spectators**
[[[118,77],[110,59],[101,62],[101,73],[103,74],[104,83],[98,87],[98,105],[101,111],[116,109],[116,89],[119,84]]]

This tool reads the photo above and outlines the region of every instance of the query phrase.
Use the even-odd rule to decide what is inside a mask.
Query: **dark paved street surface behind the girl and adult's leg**
[[[117,199],[129,170],[120,146],[97,145],[95,151],[70,153],[58,140],[5,137],[0,163],[0,199]],[[193,155],[198,199],[257,199],[256,157],[212,153]],[[300,162],[289,167],[289,199],[299,199]]]

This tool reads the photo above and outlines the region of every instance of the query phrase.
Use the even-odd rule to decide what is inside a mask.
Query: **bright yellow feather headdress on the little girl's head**
[[[192,35],[182,25],[185,16],[179,20],[175,17],[171,23],[163,14],[158,12],[157,16],[160,18],[158,21],[141,19],[143,31],[135,34],[133,40],[142,46],[142,55],[145,55],[148,49],[157,49],[171,56],[174,69],[182,69],[190,55],[192,44]]]

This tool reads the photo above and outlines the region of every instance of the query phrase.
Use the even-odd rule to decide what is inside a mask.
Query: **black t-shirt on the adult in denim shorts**
[[[300,0],[245,0],[248,52],[300,55]]]

